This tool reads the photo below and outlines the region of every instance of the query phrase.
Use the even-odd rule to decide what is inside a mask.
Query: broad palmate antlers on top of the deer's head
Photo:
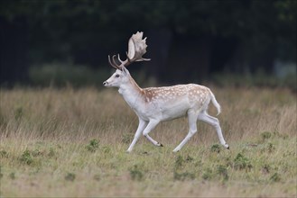
[[[121,63],[120,65],[116,64],[116,55],[112,58],[108,55],[108,62],[112,67],[116,69],[123,69],[123,67],[127,67],[131,63],[135,61],[148,61],[151,60],[150,58],[143,58],[144,54],[146,53],[146,37],[143,40],[143,31],[137,31],[135,34],[132,35],[128,42],[128,52],[126,52],[127,58],[123,61],[119,54],[117,54],[117,59]]]

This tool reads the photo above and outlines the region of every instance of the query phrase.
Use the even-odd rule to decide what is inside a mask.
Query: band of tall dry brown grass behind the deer
[[[222,106],[218,116],[229,141],[250,139],[260,132],[296,131],[296,97],[287,90],[218,89],[213,92]],[[210,104],[210,113],[216,113]],[[1,135],[9,138],[86,140],[100,138],[116,143],[134,133],[137,117],[120,94],[113,90],[14,89],[1,91]],[[191,144],[216,142],[209,125],[198,122],[199,134]],[[188,131],[187,118],[161,123],[153,130],[167,144],[176,144]],[[158,139],[157,138],[157,139]]]

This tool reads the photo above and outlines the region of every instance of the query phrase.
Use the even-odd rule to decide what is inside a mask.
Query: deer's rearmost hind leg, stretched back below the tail
[[[221,130],[220,126],[219,126],[218,118],[212,117],[212,116],[210,116],[208,114],[208,112],[203,111],[203,112],[200,112],[200,114],[198,116],[198,120],[205,121],[205,122],[209,123],[210,125],[212,125],[217,130],[219,142],[225,148],[229,148],[229,146],[227,145],[227,143],[226,143],[226,141],[225,141],[225,139],[223,137],[222,130]]]

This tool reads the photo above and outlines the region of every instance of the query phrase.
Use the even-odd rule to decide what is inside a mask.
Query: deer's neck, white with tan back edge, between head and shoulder
[[[132,76],[130,76],[127,83],[120,85],[118,92],[123,95],[125,102],[134,110],[142,102],[143,89],[137,85]]]

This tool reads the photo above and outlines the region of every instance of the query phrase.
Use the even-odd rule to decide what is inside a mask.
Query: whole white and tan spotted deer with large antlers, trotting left
[[[197,132],[197,120],[206,121],[218,133],[220,143],[227,145],[218,119],[208,114],[208,106],[211,101],[220,112],[220,106],[210,89],[202,85],[173,85],[163,87],[141,88],[136,84],[126,67],[135,61],[147,61],[149,58],[142,56],[146,52],[146,38],[143,40],[143,32],[137,31],[128,42],[127,58],[123,61],[117,55],[120,64],[116,63],[114,55],[108,56],[109,64],[116,68],[116,72],[103,83],[105,86],[118,87],[118,92],[123,95],[125,102],[135,111],[139,119],[139,125],[135,132],[135,137],[127,149],[131,152],[136,141],[143,134],[153,145],[162,147],[162,144],[149,136],[155,126],[160,121],[170,121],[188,115],[190,130],[188,135],[181,141],[181,144],[173,149],[173,152],[181,148]]]

